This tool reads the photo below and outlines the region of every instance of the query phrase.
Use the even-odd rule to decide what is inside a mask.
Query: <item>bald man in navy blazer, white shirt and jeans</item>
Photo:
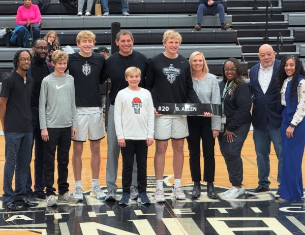
[[[280,179],[283,163],[281,138],[281,100],[277,90],[276,75],[280,60],[272,46],[263,44],[258,50],[260,63],[250,70],[250,89],[253,93],[252,125],[258,167],[258,187],[248,194],[258,195],[270,193],[270,145],[275,148],[278,157],[279,190],[275,197],[280,196]]]

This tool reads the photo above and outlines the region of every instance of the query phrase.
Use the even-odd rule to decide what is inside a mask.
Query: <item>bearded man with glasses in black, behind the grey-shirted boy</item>
[[[45,199],[46,195],[44,193],[44,174],[43,174],[43,141],[41,139],[41,130],[39,125],[39,95],[42,80],[47,77],[50,73],[54,71],[53,66],[45,61],[48,55],[48,43],[44,39],[37,39],[33,44],[33,57],[32,64],[27,71],[27,75],[32,77],[35,81],[34,89],[31,99],[32,108],[32,124],[34,128],[34,141],[35,141],[35,185],[34,193],[32,191],[32,177],[31,170],[29,171],[27,183],[26,183],[26,197],[30,202],[37,202],[37,199]],[[33,143],[33,142],[32,142]],[[32,155],[32,154],[31,154]],[[36,199],[37,198],[37,199]]]

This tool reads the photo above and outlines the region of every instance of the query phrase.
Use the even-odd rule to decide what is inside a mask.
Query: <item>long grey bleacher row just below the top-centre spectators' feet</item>
[[[2,26],[15,28],[16,16],[0,16]],[[112,22],[119,22],[124,28],[186,28],[194,27],[197,15],[188,14],[149,14],[131,16],[43,16],[42,29],[102,29],[110,28]],[[225,15],[225,22],[232,24],[232,16]],[[201,25],[205,27],[220,27],[219,17],[205,16]]]

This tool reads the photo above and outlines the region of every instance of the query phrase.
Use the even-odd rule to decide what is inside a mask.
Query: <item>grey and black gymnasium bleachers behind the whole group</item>
[[[98,46],[111,46],[111,23],[119,22],[121,28],[134,35],[134,49],[148,58],[163,52],[162,35],[166,29],[181,33],[179,53],[189,57],[195,51],[204,53],[210,72],[221,76],[222,64],[228,57],[241,61],[243,74],[259,61],[257,51],[261,44],[268,43],[277,50],[283,44],[279,58],[294,54],[305,60],[305,1],[303,0],[227,0],[225,21],[231,25],[227,31],[220,29],[218,15],[203,17],[201,31],[195,31],[198,1],[193,0],[130,0],[130,16],[120,14],[120,2],[109,0],[108,17],[77,17],[77,9],[58,0],[51,0],[42,13],[42,36],[48,30],[57,31],[62,46],[71,45],[75,51],[75,38],[82,29],[92,30],[97,35]],[[272,17],[268,19],[267,35],[266,4],[272,5]],[[16,11],[23,1],[0,1],[0,22],[3,27],[16,26]],[[257,9],[254,10],[253,8]],[[92,14],[94,15],[94,7]],[[281,37],[279,36],[281,33]],[[264,40],[264,38],[268,40]],[[278,40],[279,38],[279,40]],[[0,82],[12,68],[16,46],[7,47],[0,39]]]

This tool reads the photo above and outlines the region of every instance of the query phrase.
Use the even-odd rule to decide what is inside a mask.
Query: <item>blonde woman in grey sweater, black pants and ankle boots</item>
[[[190,69],[193,87],[200,102],[203,104],[219,104],[220,91],[215,75],[209,73],[204,55],[195,51],[190,55]],[[207,182],[207,196],[215,199],[214,191],[215,176],[215,138],[220,131],[220,116],[203,117],[188,116],[189,137],[187,138],[190,152],[190,169],[194,188],[192,198],[200,196],[200,141],[203,151],[203,181]]]

